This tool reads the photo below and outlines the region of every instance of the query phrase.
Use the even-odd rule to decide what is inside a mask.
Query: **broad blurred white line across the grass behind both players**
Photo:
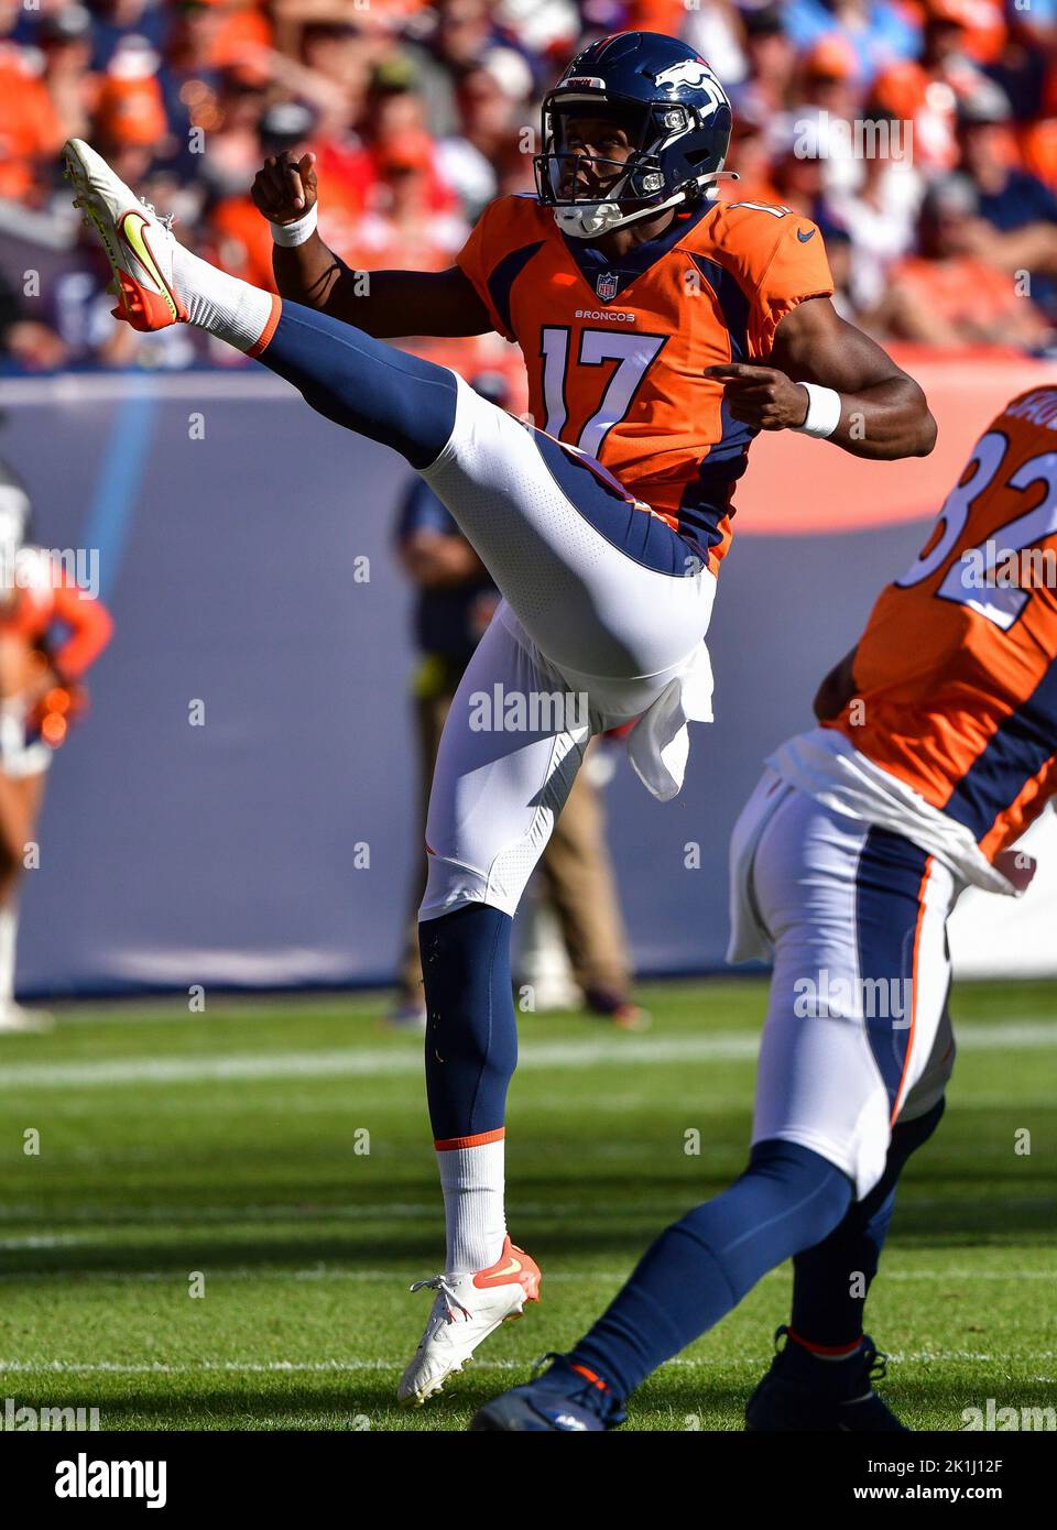
[[[1057,1047],[1057,1021],[1014,1021],[1008,1025],[965,1025],[962,1051],[1039,1051]],[[679,1066],[694,1062],[751,1062],[759,1036],[713,1031],[707,1036],[613,1037],[600,1040],[525,1042],[519,1068],[630,1068],[641,1063]],[[266,1079],[379,1079],[422,1071],[418,1048],[343,1047],[318,1051],[207,1053],[118,1060],[2,1065],[0,1089],[98,1089],[122,1085],[233,1083]]]

